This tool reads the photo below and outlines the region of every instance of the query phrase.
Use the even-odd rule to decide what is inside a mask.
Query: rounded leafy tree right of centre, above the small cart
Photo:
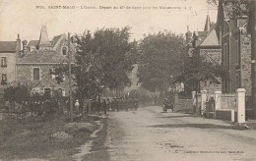
[[[149,34],[140,43],[138,77],[150,91],[166,91],[171,79],[182,71],[185,41],[180,35],[164,31]]]

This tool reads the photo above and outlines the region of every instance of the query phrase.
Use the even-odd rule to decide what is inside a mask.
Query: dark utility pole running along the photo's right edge
[[[251,1],[251,78],[252,78],[252,117],[256,119],[256,1]]]

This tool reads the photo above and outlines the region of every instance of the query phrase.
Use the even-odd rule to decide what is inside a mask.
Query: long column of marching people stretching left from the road
[[[53,99],[32,97],[31,99],[24,100],[21,103],[15,103],[15,101],[6,101],[5,108],[9,112],[10,109],[17,109],[21,106],[21,113],[31,112],[34,115],[53,114],[56,112],[68,112],[70,111],[70,102],[68,98]],[[128,111],[137,110],[139,107],[139,100],[133,97],[114,97],[114,98],[102,98],[87,99],[85,102],[76,100],[73,102],[74,113],[104,113],[109,111]],[[19,108],[19,107],[18,107]]]

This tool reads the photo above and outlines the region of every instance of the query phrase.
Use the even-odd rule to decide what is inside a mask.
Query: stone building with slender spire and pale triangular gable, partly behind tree
[[[207,15],[205,28],[203,31],[190,32],[189,29],[186,33],[186,41],[188,44],[189,57],[203,57],[205,61],[211,63],[221,64],[222,62],[222,49],[218,38],[216,24],[211,23],[209,15]],[[210,81],[201,81],[200,90],[208,90],[214,92],[222,89],[222,80],[220,83],[210,83]]]

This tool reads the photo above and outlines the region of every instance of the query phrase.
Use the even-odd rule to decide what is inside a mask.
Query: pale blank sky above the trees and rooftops
[[[42,25],[46,25],[50,39],[102,27],[129,26],[131,39],[137,40],[163,30],[184,34],[187,26],[190,31],[200,31],[208,14],[212,22],[217,21],[216,8],[206,1],[0,0],[0,40],[15,41],[18,33],[21,39],[36,40]]]

